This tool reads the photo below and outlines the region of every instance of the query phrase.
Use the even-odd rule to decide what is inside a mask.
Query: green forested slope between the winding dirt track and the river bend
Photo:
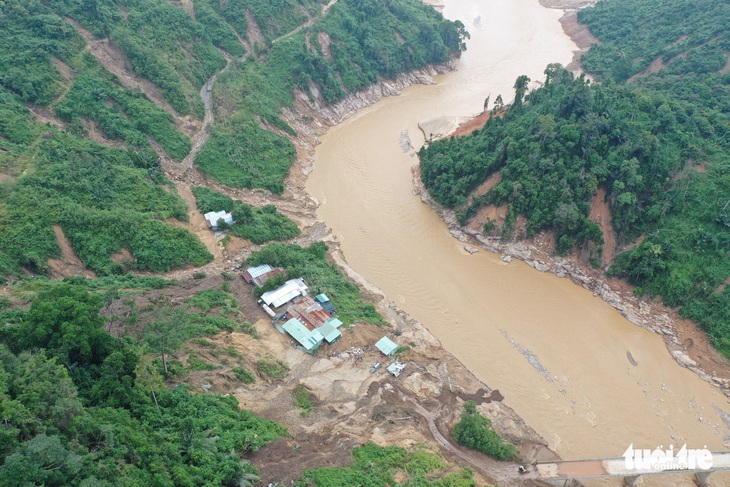
[[[311,2],[302,4],[312,11]],[[214,91],[216,126],[196,163],[226,185],[281,193],[296,154],[285,138],[294,131],[280,113],[292,106],[295,88],[331,103],[379,77],[447,61],[465,35],[460,23],[418,1],[340,0],[311,27],[261,46],[222,73]]]

